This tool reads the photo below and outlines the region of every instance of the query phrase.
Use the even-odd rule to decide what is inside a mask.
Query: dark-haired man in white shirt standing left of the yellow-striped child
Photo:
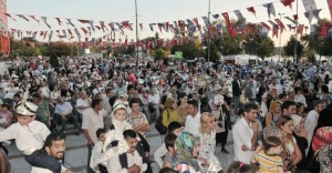
[[[232,139],[235,161],[250,164],[250,160],[258,146],[259,121],[257,120],[258,105],[243,105],[242,118],[234,125]]]

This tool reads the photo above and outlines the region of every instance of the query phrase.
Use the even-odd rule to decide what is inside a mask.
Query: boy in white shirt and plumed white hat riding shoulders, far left
[[[37,109],[35,104],[21,101],[17,106],[18,122],[0,131],[0,141],[14,139],[29,164],[60,173],[60,162],[42,150],[50,130],[45,124],[34,121]]]

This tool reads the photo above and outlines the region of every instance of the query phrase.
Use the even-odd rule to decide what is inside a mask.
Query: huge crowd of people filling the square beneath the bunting
[[[151,173],[152,164],[162,173],[332,172],[329,65],[17,58],[12,67],[1,74],[0,172],[10,172],[10,142],[34,173],[72,172],[62,165],[69,131],[86,139],[89,173]],[[164,136],[154,160],[153,129]],[[228,139],[227,169],[215,152],[229,154]]]

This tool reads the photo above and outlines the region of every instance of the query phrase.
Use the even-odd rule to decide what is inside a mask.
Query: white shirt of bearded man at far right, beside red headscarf
[[[307,115],[304,122],[304,129],[308,132],[308,138],[307,138],[308,144],[311,143],[313,131],[317,126],[318,119],[319,119],[319,114],[315,112],[315,110],[311,110]]]

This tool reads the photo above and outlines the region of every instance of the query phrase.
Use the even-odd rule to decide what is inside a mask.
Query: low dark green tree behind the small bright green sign
[[[203,51],[198,49],[193,41],[186,41],[181,45],[172,47],[170,53],[175,54],[176,51],[181,51],[184,54],[184,59],[188,60],[203,57]]]

